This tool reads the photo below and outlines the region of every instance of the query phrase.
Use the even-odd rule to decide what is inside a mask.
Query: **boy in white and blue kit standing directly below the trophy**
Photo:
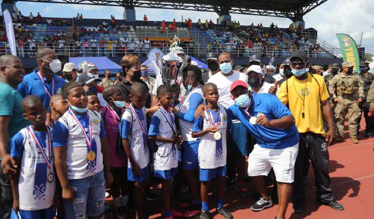
[[[153,155],[154,176],[162,179],[163,215],[165,219],[173,219],[183,216],[182,213],[172,213],[170,204],[172,177],[178,173],[177,144],[182,144],[183,136],[178,135],[174,115],[169,111],[174,103],[173,88],[170,85],[161,85],[157,89],[157,98],[161,107],[153,114],[148,135],[156,145]]]

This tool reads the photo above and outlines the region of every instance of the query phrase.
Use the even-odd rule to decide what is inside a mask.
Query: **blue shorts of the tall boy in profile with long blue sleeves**
[[[184,170],[196,170],[198,169],[198,144],[197,141],[184,141],[183,147],[183,169]]]

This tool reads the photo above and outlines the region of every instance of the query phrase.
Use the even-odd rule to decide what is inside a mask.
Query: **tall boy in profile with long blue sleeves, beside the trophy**
[[[201,200],[198,192],[198,160],[197,150],[199,138],[194,138],[192,134],[192,125],[194,121],[194,112],[198,105],[204,103],[203,93],[199,87],[201,80],[201,70],[195,65],[189,65],[183,70],[183,85],[189,92],[180,109],[173,110],[173,113],[179,118],[181,134],[183,135],[183,169],[187,176],[187,182],[192,196],[192,207],[187,211],[184,217],[193,218],[200,213]]]

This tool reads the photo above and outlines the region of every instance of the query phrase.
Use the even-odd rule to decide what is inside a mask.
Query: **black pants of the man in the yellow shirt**
[[[310,159],[315,176],[317,187],[317,199],[322,203],[329,203],[334,200],[330,188],[329,176],[329,151],[324,137],[312,132],[300,133],[299,153],[295,163],[295,179],[293,182],[293,203],[303,203],[305,190],[303,185],[303,170],[305,160]]]

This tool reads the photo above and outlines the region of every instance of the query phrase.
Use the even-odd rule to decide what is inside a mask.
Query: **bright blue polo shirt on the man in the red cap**
[[[253,107],[249,114],[257,116],[258,112],[262,112],[269,120],[278,119],[284,116],[292,115],[290,110],[286,108],[277,96],[272,94],[255,94],[253,95]],[[239,119],[245,128],[251,132],[252,136],[257,140],[257,144],[263,148],[283,149],[292,147],[299,142],[299,133],[296,125],[290,128],[268,128],[259,124],[251,124],[249,116],[244,112],[245,109],[239,108],[236,104],[229,107],[227,116],[230,119]]]

